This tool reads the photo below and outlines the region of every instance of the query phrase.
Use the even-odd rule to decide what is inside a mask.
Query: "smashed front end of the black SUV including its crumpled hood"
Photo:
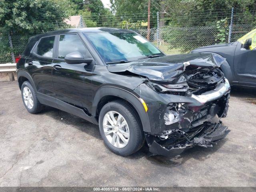
[[[224,62],[216,54],[182,54],[108,66],[110,72],[144,79],[133,91],[147,106],[150,127],[143,129],[153,155],[176,156],[226,136],[220,121],[230,97],[220,70]]]

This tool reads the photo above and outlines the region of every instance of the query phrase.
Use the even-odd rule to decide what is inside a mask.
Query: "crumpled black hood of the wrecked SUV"
[[[149,80],[161,82],[186,82],[188,74],[201,69],[214,70],[226,59],[216,54],[190,53],[148,58],[123,64],[110,64],[110,72],[124,73],[126,71],[144,76]]]

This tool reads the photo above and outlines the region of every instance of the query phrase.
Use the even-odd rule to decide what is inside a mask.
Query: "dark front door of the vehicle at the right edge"
[[[256,86],[256,50],[244,48],[239,42],[234,55],[234,72],[241,85]]]

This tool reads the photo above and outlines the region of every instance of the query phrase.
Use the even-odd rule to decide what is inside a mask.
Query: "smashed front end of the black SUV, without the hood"
[[[193,60],[175,72],[172,83],[148,80],[134,90],[148,104],[151,132],[145,136],[152,155],[210,147],[229,132],[220,118],[227,115],[230,85],[219,66]]]

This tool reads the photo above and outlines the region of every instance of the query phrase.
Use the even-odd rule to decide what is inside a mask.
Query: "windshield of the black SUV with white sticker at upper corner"
[[[108,62],[133,61],[152,55],[163,55],[150,42],[135,33],[84,33],[103,60]]]

